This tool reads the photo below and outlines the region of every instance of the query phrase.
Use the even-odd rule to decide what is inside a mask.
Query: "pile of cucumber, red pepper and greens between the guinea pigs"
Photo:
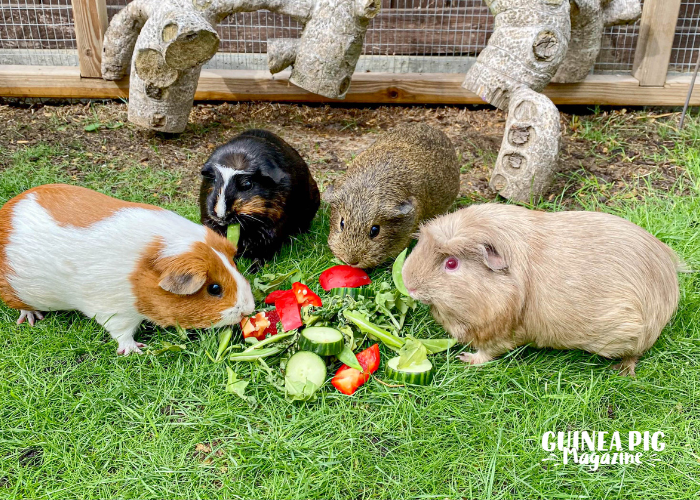
[[[291,289],[280,289],[296,273],[256,278],[254,293],[257,299],[264,298],[266,307],[241,321],[243,343],[232,344],[234,331],[227,328],[219,333],[216,355],[207,353],[214,363],[227,362],[226,391],[252,401],[245,394],[249,381],[234,370],[239,363],[252,362],[288,399],[308,401],[316,397],[327,369],[338,361],[341,366],[331,384],[352,395],[379,369],[379,342],[397,354],[385,363],[386,378],[429,384],[434,367],[428,355],[449,349],[455,341],[400,335],[407,314],[416,308],[401,280],[405,258],[406,251],[394,263],[395,288],[381,283],[374,293],[366,287],[371,283],[367,273],[346,265],[321,273],[319,283],[327,292],[323,298],[300,281],[294,281]],[[367,339],[375,343],[362,349]]]

